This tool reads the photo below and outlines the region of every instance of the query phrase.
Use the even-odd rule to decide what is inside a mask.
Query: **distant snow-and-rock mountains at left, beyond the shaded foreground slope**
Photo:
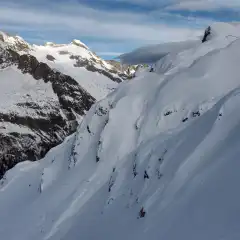
[[[79,40],[31,46],[3,32],[0,70],[0,177],[18,162],[42,158],[127,78]]]

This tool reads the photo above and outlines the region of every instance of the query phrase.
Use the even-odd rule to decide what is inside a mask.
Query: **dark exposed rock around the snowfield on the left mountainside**
[[[56,102],[41,105],[32,99],[16,103],[16,106],[34,114],[20,115],[16,112],[2,112],[2,123],[15,124],[29,129],[29,133],[2,133],[0,129],[0,178],[4,173],[25,160],[35,161],[45,156],[54,146],[77,128],[76,113],[84,115],[95,99],[88,94],[73,78],[51,69],[45,63],[39,63],[34,56],[19,55],[13,50],[0,48],[0,68],[16,65],[23,74],[31,74],[38,81],[51,83]],[[30,95],[29,95],[30,97]],[[4,126],[4,125],[3,125]]]

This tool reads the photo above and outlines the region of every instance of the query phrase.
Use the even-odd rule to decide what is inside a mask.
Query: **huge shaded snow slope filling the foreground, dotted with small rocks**
[[[121,83],[62,145],[6,173],[1,236],[238,240],[239,59],[240,39],[220,34]]]

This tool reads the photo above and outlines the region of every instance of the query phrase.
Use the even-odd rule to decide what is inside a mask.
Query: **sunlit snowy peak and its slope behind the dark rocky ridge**
[[[72,76],[100,100],[128,76],[98,57],[79,40],[70,44],[33,46],[31,54],[52,68]]]

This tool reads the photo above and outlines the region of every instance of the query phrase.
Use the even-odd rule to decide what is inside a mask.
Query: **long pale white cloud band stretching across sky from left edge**
[[[149,42],[181,41],[195,38],[199,31],[187,27],[170,27],[154,23],[146,14],[94,10],[83,5],[71,6],[66,11],[20,8],[0,8],[0,22],[17,28],[42,31],[75,32],[80,37],[102,37],[117,40]],[[63,9],[63,6],[62,6]],[[13,17],[14,16],[14,17]]]

